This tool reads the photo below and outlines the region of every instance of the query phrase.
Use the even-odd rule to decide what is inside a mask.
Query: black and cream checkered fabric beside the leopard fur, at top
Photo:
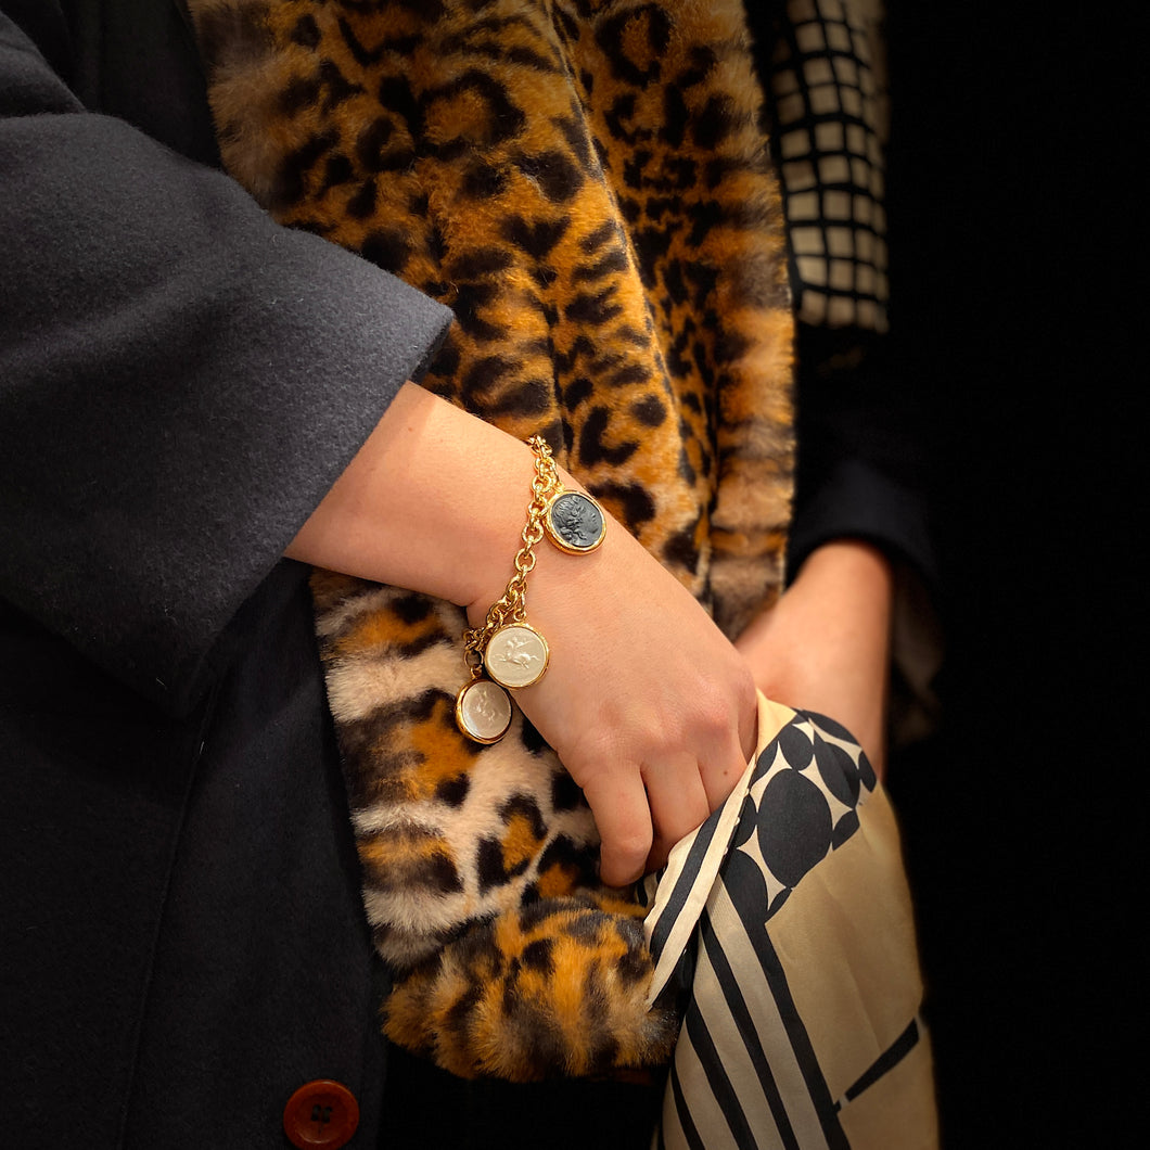
[[[887,330],[881,0],[780,0],[768,106],[798,319]]]

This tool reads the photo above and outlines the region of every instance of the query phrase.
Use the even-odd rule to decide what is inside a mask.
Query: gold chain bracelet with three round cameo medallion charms
[[[512,716],[507,691],[539,682],[551,659],[547,641],[527,621],[527,577],[535,570],[535,545],[546,535],[567,554],[586,554],[606,534],[603,508],[559,481],[559,468],[543,436],[527,442],[535,453],[535,476],[515,572],[482,626],[463,631],[463,661],[471,677],[455,698],[455,722],[477,743],[503,738]]]

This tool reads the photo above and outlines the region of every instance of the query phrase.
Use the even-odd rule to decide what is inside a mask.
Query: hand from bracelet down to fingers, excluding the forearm
[[[527,615],[551,662],[515,702],[583,789],[603,838],[600,875],[621,885],[660,866],[730,793],[754,751],[754,682],[622,524],[610,521],[591,554],[547,543],[536,553]],[[486,606],[473,605],[473,622]]]

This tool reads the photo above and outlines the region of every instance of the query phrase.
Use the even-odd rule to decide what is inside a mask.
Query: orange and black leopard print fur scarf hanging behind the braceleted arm
[[[731,0],[192,0],[228,170],[448,305],[425,388],[558,460],[735,635],[777,593],[791,313]],[[524,501],[526,501],[524,486]],[[508,558],[514,540],[508,540]],[[453,718],[463,613],[317,572],[384,1027],[463,1076],[664,1061],[636,892],[518,715]]]

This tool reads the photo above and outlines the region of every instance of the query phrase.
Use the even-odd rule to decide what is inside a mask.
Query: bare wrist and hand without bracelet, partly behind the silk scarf
[[[892,598],[890,564],[881,551],[860,539],[827,543],[735,643],[764,695],[841,722],[880,779]]]

